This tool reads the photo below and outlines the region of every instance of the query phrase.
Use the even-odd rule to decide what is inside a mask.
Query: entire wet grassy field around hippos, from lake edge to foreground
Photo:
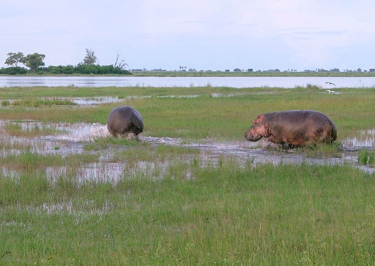
[[[78,152],[60,152],[75,142],[30,145],[66,134],[67,122],[105,125],[121,104],[141,112],[144,136],[186,143],[246,142],[243,133],[258,114],[314,109],[338,128],[334,146],[317,148],[331,156],[347,138],[369,137],[375,127],[374,89],[336,91],[0,88],[0,263],[374,264],[375,176],[353,165],[254,165],[225,155],[211,161],[191,147],[111,137],[80,140]],[[69,103],[98,96],[120,102]],[[23,123],[29,120],[40,124]],[[373,147],[360,151],[364,164],[373,157]],[[115,179],[87,172],[104,162],[123,166]]]

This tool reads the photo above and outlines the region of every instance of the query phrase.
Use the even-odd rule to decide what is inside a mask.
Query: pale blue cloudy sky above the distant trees
[[[375,68],[370,0],[1,0],[0,67],[7,53],[130,69]]]

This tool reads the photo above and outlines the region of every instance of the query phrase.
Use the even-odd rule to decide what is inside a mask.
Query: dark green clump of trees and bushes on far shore
[[[28,72],[35,74],[125,74],[131,75],[129,71],[125,69],[128,66],[124,60],[119,60],[121,52],[116,56],[114,65],[99,65],[98,59],[95,56],[95,52],[92,49],[86,48],[86,56],[83,62],[78,63],[76,66],[48,66],[45,67],[43,60],[45,59],[44,54],[28,54],[24,56],[23,53],[8,53],[8,57],[5,60],[5,64],[9,67],[1,68],[0,74],[5,75],[22,75]],[[98,64],[95,64],[98,63]],[[25,65],[29,70],[19,66],[20,64]]]

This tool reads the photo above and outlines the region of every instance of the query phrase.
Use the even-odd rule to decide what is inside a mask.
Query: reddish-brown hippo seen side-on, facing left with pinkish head
[[[290,110],[257,116],[252,127],[245,132],[249,141],[262,137],[277,144],[309,146],[331,143],[336,140],[337,128],[332,120],[314,110]]]

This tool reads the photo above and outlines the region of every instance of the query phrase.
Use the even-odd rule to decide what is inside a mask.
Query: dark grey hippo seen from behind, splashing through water
[[[133,133],[138,140],[137,135],[143,131],[142,116],[129,105],[115,107],[108,115],[107,128],[114,137]]]

